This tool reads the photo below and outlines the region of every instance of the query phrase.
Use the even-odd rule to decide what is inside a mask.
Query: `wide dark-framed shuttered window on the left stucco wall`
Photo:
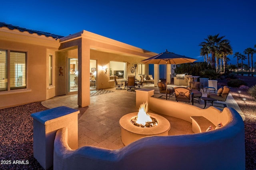
[[[25,88],[26,52],[0,50],[0,91]]]

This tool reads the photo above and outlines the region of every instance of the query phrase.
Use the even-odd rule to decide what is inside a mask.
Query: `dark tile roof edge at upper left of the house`
[[[55,40],[64,37],[64,36],[58,36],[58,35],[56,35],[56,34],[51,34],[51,33],[48,33],[48,32],[30,30],[30,29],[26,29],[26,28],[21,28],[21,27],[19,27],[19,26],[13,26],[13,25],[11,25],[11,24],[6,24],[6,23],[4,23],[4,22],[0,22],[0,28],[1,28],[1,27],[6,27],[6,28],[9,28],[10,30],[16,29],[16,30],[19,30],[20,32],[26,31],[26,32],[29,32],[30,34],[35,33],[35,34],[37,34],[38,36],[44,35],[44,36],[46,36],[46,37],[55,38]]]

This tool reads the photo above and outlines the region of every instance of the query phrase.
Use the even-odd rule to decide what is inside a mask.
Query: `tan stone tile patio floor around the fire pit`
[[[169,86],[169,85],[168,85]],[[159,93],[158,87],[153,84],[144,85],[143,88],[154,89],[154,97],[163,95]],[[136,108],[136,92],[126,90],[116,90],[115,88],[107,89],[114,91],[102,95],[90,97],[88,107],[79,108],[77,105],[77,94],[63,95],[53,97],[52,99],[42,102],[47,108],[67,106],[80,110],[78,115],[78,146],[98,146],[108,149],[118,149],[124,147],[121,140],[121,129],[119,119],[128,113],[138,112]],[[206,94],[203,94],[206,96]],[[175,100],[175,97],[171,97]],[[232,107],[243,116],[242,111],[234,101],[232,95],[228,95],[225,102],[228,107]],[[191,103],[188,103],[191,104]],[[198,103],[196,107],[204,108],[204,101]],[[207,107],[209,107],[207,105]],[[154,113],[152,111],[149,111]],[[174,117],[164,116],[171,123],[169,135],[192,134],[192,124]]]

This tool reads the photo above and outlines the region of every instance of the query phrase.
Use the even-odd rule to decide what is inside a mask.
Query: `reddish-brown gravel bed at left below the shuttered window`
[[[43,170],[33,156],[32,113],[47,108],[41,102],[0,110],[0,169]]]

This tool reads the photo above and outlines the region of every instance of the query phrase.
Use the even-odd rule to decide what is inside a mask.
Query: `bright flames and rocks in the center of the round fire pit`
[[[148,114],[148,103],[140,105],[138,115],[131,119],[131,123],[138,127],[154,127],[158,121]]]

